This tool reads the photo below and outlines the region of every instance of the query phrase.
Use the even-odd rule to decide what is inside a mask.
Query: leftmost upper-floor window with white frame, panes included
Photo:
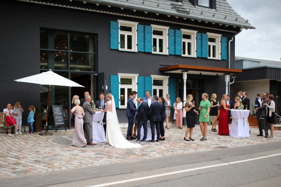
[[[138,51],[137,26],[138,22],[118,20],[119,22],[119,50]]]

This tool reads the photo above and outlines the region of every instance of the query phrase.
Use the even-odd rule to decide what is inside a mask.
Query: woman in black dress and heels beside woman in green
[[[194,141],[194,139],[192,139],[193,127],[195,127],[194,112],[199,114],[199,112],[197,112],[195,110],[195,105],[194,105],[194,103],[191,102],[192,100],[193,100],[193,97],[191,94],[189,94],[186,98],[186,103],[185,103],[186,127],[187,127],[187,129],[185,131],[185,136],[184,136],[185,141],[189,141],[189,140]],[[189,139],[187,138],[188,132],[189,132]]]

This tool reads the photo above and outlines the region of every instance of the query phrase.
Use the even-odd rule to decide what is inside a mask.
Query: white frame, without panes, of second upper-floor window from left
[[[165,27],[165,26],[160,26],[160,25],[150,25],[150,26],[152,26],[152,31],[153,30],[163,31],[163,36],[153,35],[153,33],[152,33],[152,48],[153,48],[153,38],[156,38],[157,41],[159,39],[163,39],[163,48],[164,48],[163,52],[159,52],[158,45],[156,45],[157,51],[154,52],[153,49],[152,49],[152,53],[168,55],[168,47],[169,47],[169,44],[168,44],[168,40],[169,40],[168,33],[169,33],[169,28],[170,27]]]

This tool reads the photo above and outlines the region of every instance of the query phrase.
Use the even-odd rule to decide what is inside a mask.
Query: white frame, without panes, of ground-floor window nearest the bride
[[[137,87],[138,74],[118,73],[117,75],[119,75],[119,82],[120,82],[120,84],[119,84],[119,108],[127,108],[127,101],[128,101],[128,98],[126,98],[127,89],[131,88],[132,91],[136,91],[138,89],[138,87]],[[132,79],[132,85],[122,85],[121,81],[120,81],[121,78]],[[121,101],[121,92],[120,92],[121,88],[125,88],[125,105],[121,105],[121,102],[120,102]]]

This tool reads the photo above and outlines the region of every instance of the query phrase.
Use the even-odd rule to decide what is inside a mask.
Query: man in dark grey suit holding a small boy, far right
[[[263,136],[263,128],[264,128],[264,132],[265,132],[265,138],[268,137],[268,129],[267,129],[267,113],[266,113],[266,105],[263,105],[265,103],[268,104],[268,99],[267,99],[268,93],[264,92],[263,93],[263,100],[261,101],[261,107],[257,107],[256,108],[256,117],[257,117],[257,121],[258,121],[258,130],[260,131],[260,134],[257,134],[257,136]],[[261,110],[261,118],[260,119],[260,114],[258,112],[258,110]]]

